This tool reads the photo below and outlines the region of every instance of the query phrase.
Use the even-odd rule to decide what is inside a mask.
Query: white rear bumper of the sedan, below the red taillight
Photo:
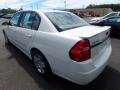
[[[93,63],[92,60],[90,60],[91,62],[88,63],[84,63],[84,68],[83,67],[83,71],[79,70],[82,67],[80,67],[79,65],[79,69],[78,69],[78,65],[77,63],[75,63],[76,65],[74,65],[73,68],[72,67],[72,72],[68,75],[69,80],[72,82],[75,82],[77,84],[80,85],[86,85],[88,83],[90,83],[91,81],[93,81],[103,70],[104,68],[107,66],[108,63],[108,59],[111,55],[112,52],[112,47],[111,44],[106,48],[106,50],[104,52],[101,53],[101,55],[99,57],[97,57],[97,60]]]

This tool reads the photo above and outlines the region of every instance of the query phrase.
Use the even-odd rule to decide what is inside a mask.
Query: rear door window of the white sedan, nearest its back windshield
[[[26,12],[23,14],[20,27],[37,30],[40,24],[40,17],[34,12]]]

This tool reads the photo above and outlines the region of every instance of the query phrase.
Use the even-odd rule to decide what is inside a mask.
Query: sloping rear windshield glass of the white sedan
[[[69,12],[47,12],[45,14],[60,32],[89,25],[80,17]]]

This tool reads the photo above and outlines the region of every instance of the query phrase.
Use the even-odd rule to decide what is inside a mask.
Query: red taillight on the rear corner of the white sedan
[[[77,62],[82,62],[90,59],[90,42],[87,39],[77,42],[69,52],[70,58]]]

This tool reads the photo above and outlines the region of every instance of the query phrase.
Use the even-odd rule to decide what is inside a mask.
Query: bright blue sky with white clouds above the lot
[[[85,8],[90,4],[120,4],[120,0],[66,0],[66,8]],[[65,0],[0,0],[0,9],[65,8]]]

